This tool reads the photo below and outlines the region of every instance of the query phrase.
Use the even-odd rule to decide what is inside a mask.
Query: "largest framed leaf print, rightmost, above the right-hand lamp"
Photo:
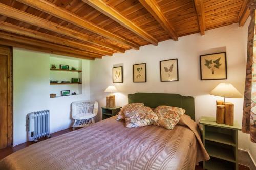
[[[227,79],[226,52],[200,56],[201,80]]]

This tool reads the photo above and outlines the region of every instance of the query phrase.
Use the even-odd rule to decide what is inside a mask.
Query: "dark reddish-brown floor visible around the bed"
[[[59,132],[55,132],[55,133],[51,134],[51,137],[56,137],[56,136],[71,132],[73,130],[76,130],[76,129],[68,128],[68,129],[65,129],[65,130],[62,130]],[[40,142],[42,140],[46,140],[46,138],[40,139],[38,142]],[[29,145],[34,144],[34,143],[35,142],[26,142],[26,143],[16,145],[15,147],[7,147],[5,149],[1,149],[0,150],[0,160],[7,157],[8,155],[10,155],[18,150],[21,150],[25,147],[28,147]],[[200,163],[199,166],[196,166],[195,170],[203,170],[202,163]],[[244,166],[244,165],[239,165],[239,170],[250,170],[250,168],[248,168],[247,166]]]

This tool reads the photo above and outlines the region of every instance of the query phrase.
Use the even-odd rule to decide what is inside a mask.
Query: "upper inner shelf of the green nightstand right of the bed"
[[[207,131],[205,133],[205,140],[214,141],[218,143],[223,143],[231,146],[236,146],[236,143],[233,140],[231,135],[226,135],[218,132]]]

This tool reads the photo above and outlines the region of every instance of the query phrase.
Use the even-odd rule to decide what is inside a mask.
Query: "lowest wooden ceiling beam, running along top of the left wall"
[[[1,39],[1,37],[0,37],[0,45],[13,46],[13,47],[17,47],[17,48],[24,48],[24,49],[27,49],[27,50],[33,50],[33,51],[38,51],[38,52],[57,54],[57,55],[69,56],[69,57],[75,57],[75,58],[81,58],[81,59],[87,59],[87,60],[94,60],[95,59],[95,58],[92,58],[92,57],[85,57],[85,56],[66,53],[66,52],[62,52],[62,51],[58,51],[58,50],[52,50],[52,49],[44,48],[44,47],[41,47],[41,46],[26,45],[26,44],[22,44],[22,43],[17,43],[17,42]]]

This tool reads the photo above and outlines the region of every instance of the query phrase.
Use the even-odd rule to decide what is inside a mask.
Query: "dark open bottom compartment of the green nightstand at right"
[[[210,158],[210,160],[205,162],[205,169],[207,170],[233,170],[234,163],[223,161],[217,158]]]

